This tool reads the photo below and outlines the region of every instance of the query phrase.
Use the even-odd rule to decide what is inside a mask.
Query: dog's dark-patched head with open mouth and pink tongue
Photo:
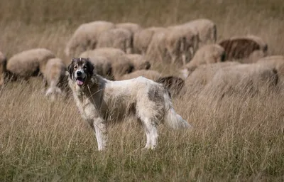
[[[80,87],[94,75],[94,65],[89,58],[72,58],[67,70],[70,79],[77,82]]]

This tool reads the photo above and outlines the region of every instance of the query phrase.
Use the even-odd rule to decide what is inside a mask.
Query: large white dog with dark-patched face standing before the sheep
[[[155,149],[158,124],[173,129],[190,128],[175,112],[170,92],[162,84],[136,77],[111,81],[97,75],[89,58],[72,58],[67,67],[68,84],[82,118],[94,129],[98,150],[107,146],[107,123],[120,116],[134,116],[146,132],[146,149]],[[116,117],[117,116],[117,117]]]

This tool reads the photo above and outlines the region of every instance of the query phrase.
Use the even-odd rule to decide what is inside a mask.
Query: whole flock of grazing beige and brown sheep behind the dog
[[[217,41],[217,26],[197,19],[168,27],[143,28],[136,23],[83,23],[67,42],[68,57],[89,58],[109,80],[144,76],[163,83],[174,94],[216,92],[258,93],[282,86],[284,57],[268,56],[268,45],[253,35]],[[177,76],[151,70],[155,62],[180,68]],[[160,64],[163,65],[163,64]],[[66,65],[45,48],[25,50],[7,60],[0,52],[0,85],[41,75],[45,95],[67,91]],[[279,88],[279,87],[278,87]]]

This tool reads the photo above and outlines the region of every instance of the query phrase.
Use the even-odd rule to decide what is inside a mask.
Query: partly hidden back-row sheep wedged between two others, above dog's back
[[[155,32],[164,30],[163,27],[149,27],[137,31],[133,35],[133,53],[146,55],[148,45],[151,43],[152,37]]]

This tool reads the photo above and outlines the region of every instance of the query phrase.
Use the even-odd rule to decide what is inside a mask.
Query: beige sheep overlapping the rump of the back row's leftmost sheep
[[[132,53],[132,34],[125,28],[112,28],[99,35],[97,48],[120,48]]]

